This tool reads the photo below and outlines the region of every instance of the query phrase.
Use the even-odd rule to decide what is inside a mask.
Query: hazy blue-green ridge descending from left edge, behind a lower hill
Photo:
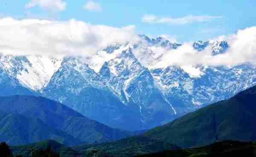
[[[96,122],[95,120],[90,120],[87,117],[84,117],[61,103],[43,97],[19,95],[0,97],[0,108],[6,113],[17,113],[26,118],[41,120],[48,126],[48,128],[65,132],[66,134],[79,139],[83,143],[94,143],[95,141],[100,143],[107,142],[111,140],[118,140],[122,137],[128,137],[130,135],[130,132],[128,131],[110,128],[102,123]],[[9,121],[6,120],[3,124],[5,123],[9,123]],[[19,134],[13,134],[13,137],[16,136],[19,136]],[[47,138],[41,140],[47,140]],[[53,140],[57,140],[62,143],[61,140]],[[28,139],[26,143],[37,141],[39,140],[35,141]],[[21,143],[15,143],[15,141],[12,141],[12,144]]]

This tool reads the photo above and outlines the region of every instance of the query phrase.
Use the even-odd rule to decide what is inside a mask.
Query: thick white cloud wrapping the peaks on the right
[[[230,48],[224,54],[212,56],[208,46],[204,51],[196,51],[193,42],[184,43],[177,49],[149,47],[151,51],[138,49],[135,55],[147,67],[166,66],[233,66],[240,63],[256,64],[256,26],[237,31],[236,34],[220,36],[214,40],[227,40]]]

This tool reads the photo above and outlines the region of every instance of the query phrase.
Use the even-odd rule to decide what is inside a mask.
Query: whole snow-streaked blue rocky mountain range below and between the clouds
[[[0,56],[0,95],[38,95],[63,103],[111,127],[148,129],[209,103],[227,99],[256,83],[255,66],[145,66],[145,58],[160,57],[152,49],[178,49],[163,37],[113,44],[99,56]],[[145,44],[146,43],[146,44]],[[226,41],[198,41],[198,53],[229,49]],[[143,55],[138,55],[138,51]],[[107,58],[107,59],[106,59]]]

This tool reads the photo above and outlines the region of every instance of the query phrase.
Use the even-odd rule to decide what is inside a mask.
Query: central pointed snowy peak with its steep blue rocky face
[[[175,109],[165,99],[150,71],[134,56],[132,46],[112,53],[116,57],[104,63],[99,75],[119,99],[134,111],[140,111],[141,122],[150,127],[172,119]]]

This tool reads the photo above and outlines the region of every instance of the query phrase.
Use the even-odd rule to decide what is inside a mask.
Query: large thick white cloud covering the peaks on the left
[[[112,43],[136,42],[134,26],[116,28],[77,20],[0,19],[0,53],[90,57]]]

